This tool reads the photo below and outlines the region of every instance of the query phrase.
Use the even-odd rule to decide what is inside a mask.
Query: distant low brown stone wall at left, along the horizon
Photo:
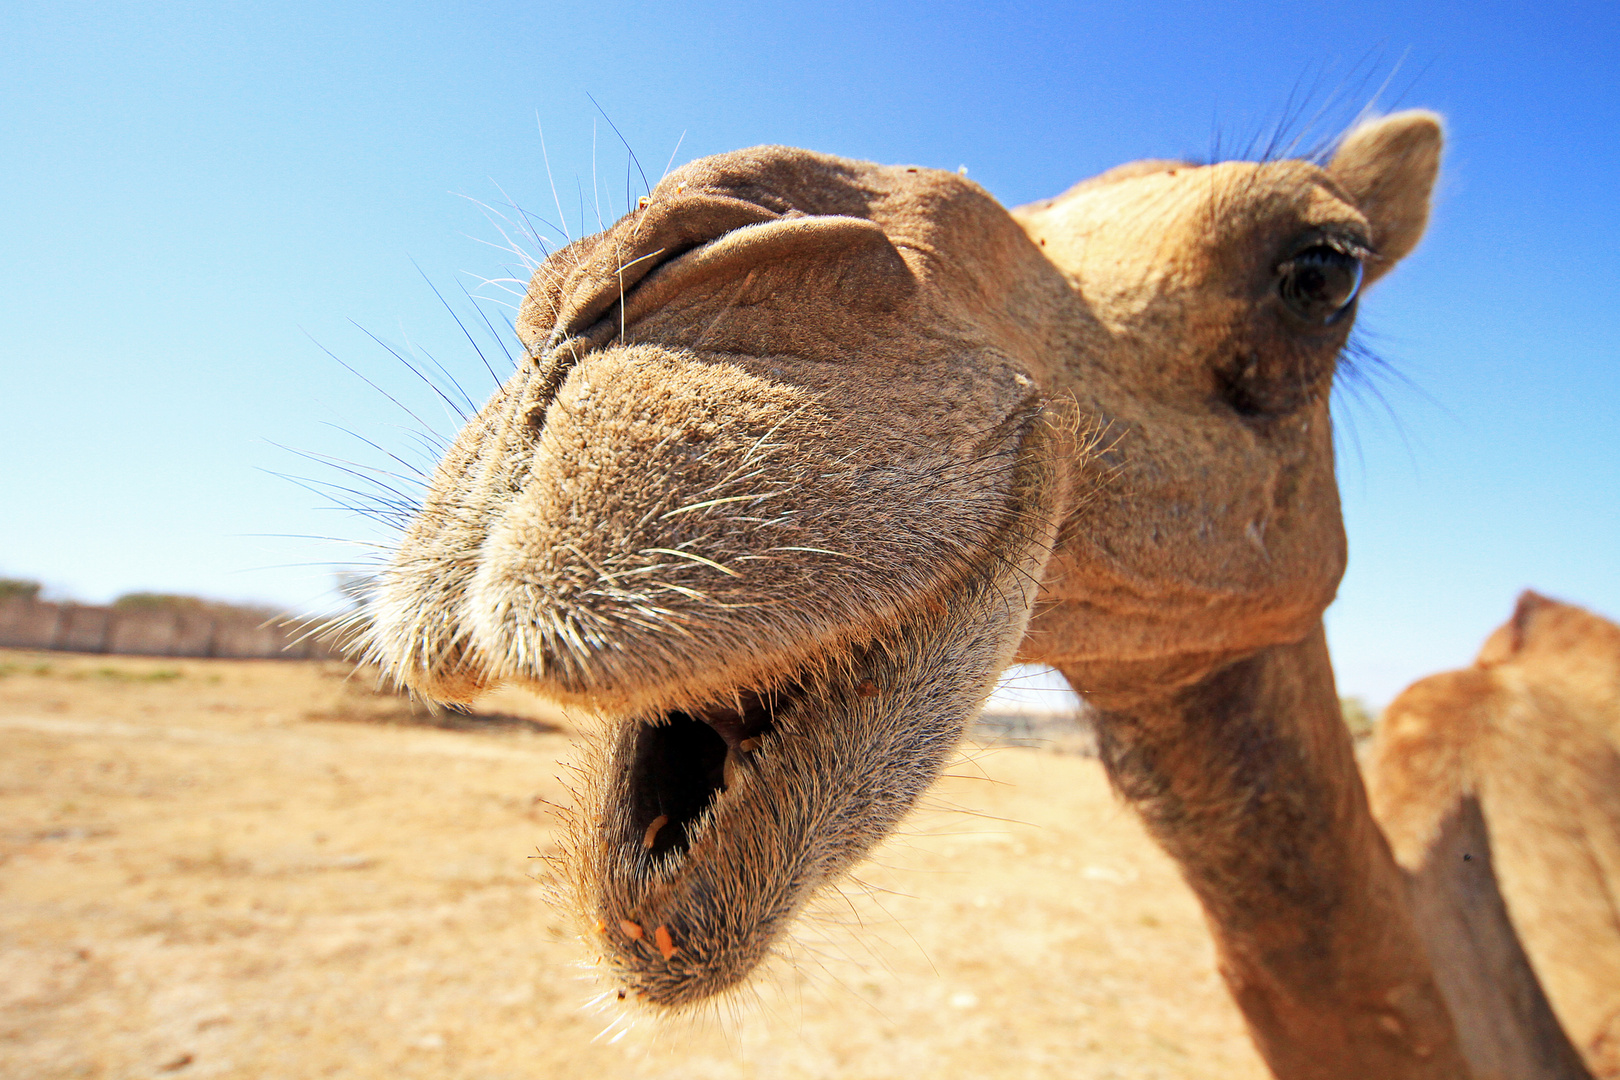
[[[96,607],[31,597],[0,601],[0,648],[122,653],[128,656],[217,656],[233,659],[335,659],[318,640],[319,623],[225,606]]]

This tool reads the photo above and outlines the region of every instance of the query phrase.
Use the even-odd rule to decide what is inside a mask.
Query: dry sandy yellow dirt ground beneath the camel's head
[[[0,1077],[1265,1075],[1092,759],[969,748],[757,993],[625,1025],[535,881],[567,719],[347,674],[0,651]]]

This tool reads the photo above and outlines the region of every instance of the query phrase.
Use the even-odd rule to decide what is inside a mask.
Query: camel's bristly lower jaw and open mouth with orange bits
[[[951,759],[1004,661],[1003,604],[920,615],[770,690],[620,722],[561,860],[627,994],[684,1009],[742,983]]]

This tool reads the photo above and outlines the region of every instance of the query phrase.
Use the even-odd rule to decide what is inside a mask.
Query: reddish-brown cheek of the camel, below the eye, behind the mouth
[[[1113,476],[1064,526],[1027,659],[1094,664],[1098,687],[1121,665],[1184,661],[1191,677],[1299,640],[1332,602],[1346,544],[1325,406],[1267,431],[1142,418],[1110,453]]]

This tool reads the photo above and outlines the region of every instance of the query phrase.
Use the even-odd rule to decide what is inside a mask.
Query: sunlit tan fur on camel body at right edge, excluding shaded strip
[[[1620,1077],[1620,627],[1526,593],[1474,667],[1390,704],[1371,793],[1413,874],[1474,798],[1518,938],[1597,1077]]]

